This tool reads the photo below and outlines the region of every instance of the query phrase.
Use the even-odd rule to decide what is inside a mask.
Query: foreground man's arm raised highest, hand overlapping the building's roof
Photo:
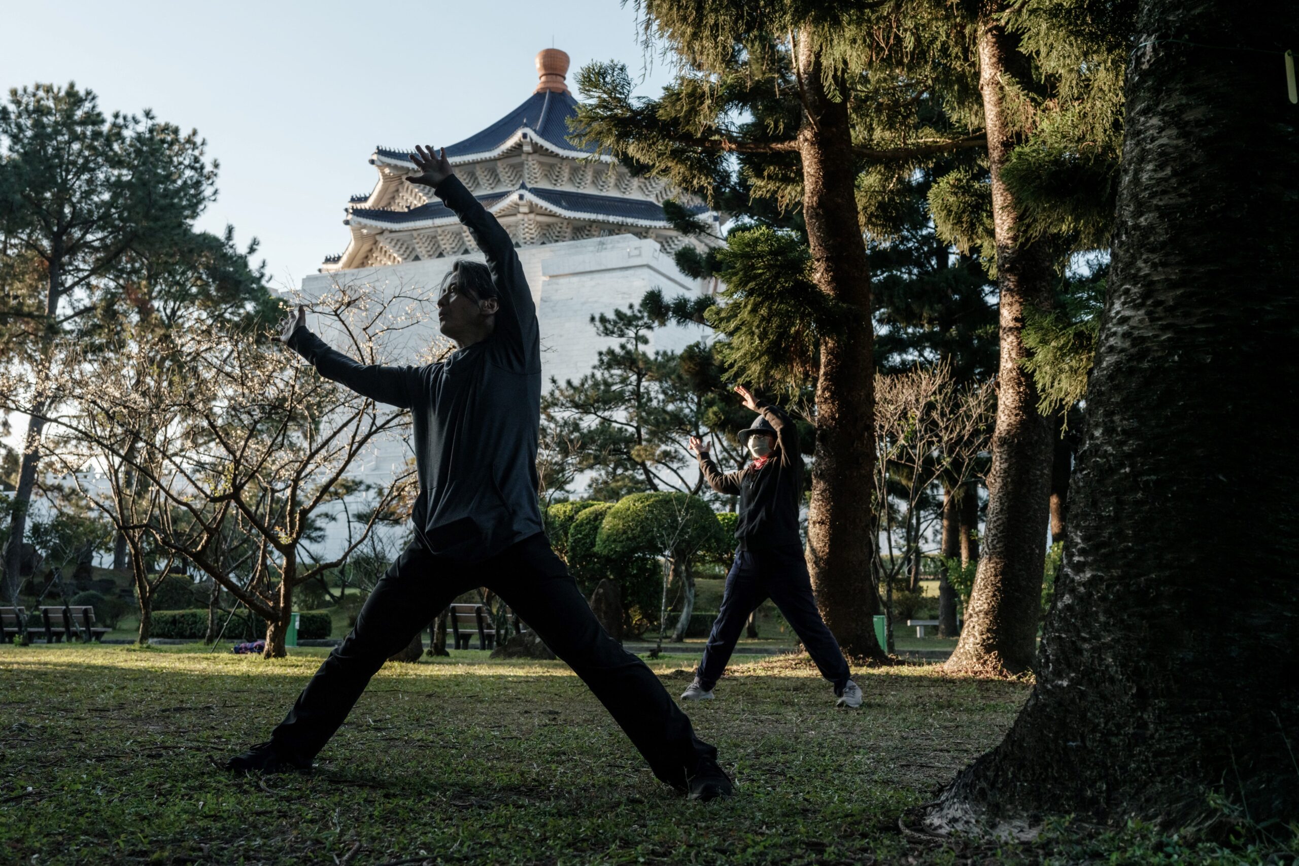
[[[542,341],[536,326],[536,305],[533,304],[533,292],[527,288],[523,265],[518,261],[509,232],[496,222],[496,217],[487,213],[465,184],[460,183],[451,169],[451,161],[447,160],[446,148],[440,153],[434,153],[431,147],[416,147],[410,161],[421,173],[407,179],[410,183],[433,187],[434,195],[456,213],[487,257],[487,267],[491,270],[500,303],[496,330],[518,352],[521,362],[539,365]]]

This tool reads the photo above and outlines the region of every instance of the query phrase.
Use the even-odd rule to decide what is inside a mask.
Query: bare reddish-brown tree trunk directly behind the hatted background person
[[[826,626],[850,656],[883,658],[873,617],[870,519],[874,487],[874,367],[870,278],[855,199],[856,161],[848,104],[831,99],[812,39],[796,51],[805,117],[799,129],[803,218],[812,278],[860,314],[859,330],[821,343],[816,383],[816,454],[808,510],[808,570]],[[839,80],[839,93],[847,82]]]

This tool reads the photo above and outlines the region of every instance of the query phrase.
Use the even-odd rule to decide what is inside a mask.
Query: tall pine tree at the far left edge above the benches
[[[4,275],[0,312],[6,361],[55,382],[60,341],[92,336],[109,275],[143,249],[187,243],[214,195],[216,164],[196,132],[144,112],[105,117],[75,84],[9,91],[0,106],[0,238],[26,277]],[[9,267],[6,266],[8,271]],[[18,292],[10,290],[18,288]],[[10,505],[4,570],[17,591],[18,557],[36,483],[49,391],[30,409]]]

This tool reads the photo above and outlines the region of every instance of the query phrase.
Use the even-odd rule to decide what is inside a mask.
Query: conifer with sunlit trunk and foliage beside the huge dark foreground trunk
[[[1130,16],[1087,0],[953,8],[976,48],[987,158],[930,197],[943,234],[995,267],[1000,364],[983,556],[948,670],[1017,674],[1035,657],[1056,425],[1024,327],[1051,310],[1069,254],[1108,240]]]

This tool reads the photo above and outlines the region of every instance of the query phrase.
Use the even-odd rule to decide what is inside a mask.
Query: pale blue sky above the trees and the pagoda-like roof
[[[577,70],[617,58],[657,93],[635,13],[617,0],[523,3],[60,3],[0,0],[0,87],[75,80],[108,112],[191,127],[221,161],[200,225],[256,235],[277,287],[347,243],[374,145],[460,140],[522,103],[552,43]],[[581,93],[578,93],[581,97]]]

